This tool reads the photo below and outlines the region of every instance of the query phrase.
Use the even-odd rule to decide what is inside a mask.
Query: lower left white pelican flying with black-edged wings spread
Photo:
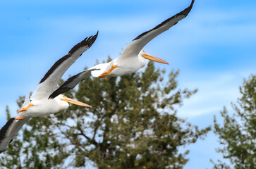
[[[27,99],[23,107],[18,111],[16,118],[8,120],[6,125],[0,130],[0,154],[6,146],[13,140],[20,128],[32,117],[39,117],[57,113],[68,108],[68,103],[79,106],[91,107],[83,102],[70,99],[63,94],[59,94],[54,99],[48,99],[54,90],[57,89],[59,80],[68,68],[92,46],[97,39],[97,35],[86,37],[82,42],[73,46],[66,56],[56,61],[54,65],[44,75],[39,82],[37,89],[32,93],[30,99]],[[90,74],[92,70],[88,70]]]

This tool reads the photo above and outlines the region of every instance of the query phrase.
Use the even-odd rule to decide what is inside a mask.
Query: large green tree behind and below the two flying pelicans
[[[188,151],[178,148],[195,143],[210,128],[198,130],[177,117],[183,99],[197,92],[178,89],[177,76],[178,71],[167,76],[150,62],[142,73],[87,78],[66,96],[92,108],[73,105],[55,115],[32,118],[23,127],[23,137],[1,156],[1,165],[183,168]]]

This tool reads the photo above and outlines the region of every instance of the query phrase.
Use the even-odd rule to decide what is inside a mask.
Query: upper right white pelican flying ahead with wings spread
[[[119,76],[135,73],[137,70],[145,66],[145,58],[151,61],[169,64],[166,61],[161,60],[160,58],[147,54],[145,51],[142,50],[142,48],[148,42],[154,39],[154,37],[157,37],[162,32],[169,30],[170,27],[176,25],[178,21],[185,18],[188,15],[188,13],[190,13],[194,1],[195,0],[192,0],[190,6],[188,6],[188,8],[185,8],[185,10],[181,11],[180,13],[177,13],[176,15],[173,15],[171,18],[168,18],[167,20],[164,20],[164,22],[160,23],[152,30],[144,32],[135,39],[133,39],[132,42],[126,45],[125,49],[123,50],[123,53],[118,58],[114,59],[109,63],[102,63],[99,65],[95,65],[92,68],[89,68],[88,70],[94,69],[92,71],[92,76],[102,78],[106,76]],[[61,87],[59,87],[59,89],[57,89],[53,94],[51,94],[49,98],[53,99],[59,94],[67,92],[70,89],[73,89],[73,87],[75,87],[76,84],[84,80],[86,77],[90,76],[88,75],[88,70],[85,70],[81,73],[78,73],[78,75],[70,77],[68,80],[66,80],[66,82],[64,82],[61,85]]]

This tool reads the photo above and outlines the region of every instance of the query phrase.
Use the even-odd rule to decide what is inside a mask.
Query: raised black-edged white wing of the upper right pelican
[[[190,13],[191,8],[193,7],[195,0],[192,0],[190,6],[188,8],[185,8],[185,10],[181,11],[180,13],[177,13],[176,15],[173,15],[171,18],[164,20],[164,22],[160,23],[156,27],[154,27],[152,30],[149,30],[147,32],[142,33],[135,39],[133,39],[132,42],[126,45],[125,49],[123,50],[123,53],[119,58],[126,58],[131,56],[138,56],[142,48],[150,42],[154,37],[157,37],[162,32],[169,30],[170,27],[173,25],[176,25],[178,21],[185,18],[188,13]]]

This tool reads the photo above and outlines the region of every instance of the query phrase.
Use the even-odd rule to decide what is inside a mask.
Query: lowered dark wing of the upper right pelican
[[[73,89],[76,86],[76,84],[83,81],[85,78],[90,77],[92,75],[92,71],[94,71],[94,70],[96,70],[96,69],[85,70],[81,73],[78,73],[77,75],[74,75],[74,76],[68,78],[68,80],[66,80],[66,82],[64,82],[58,89],[56,89],[49,96],[49,99],[54,99],[59,94],[68,92],[69,90]]]

